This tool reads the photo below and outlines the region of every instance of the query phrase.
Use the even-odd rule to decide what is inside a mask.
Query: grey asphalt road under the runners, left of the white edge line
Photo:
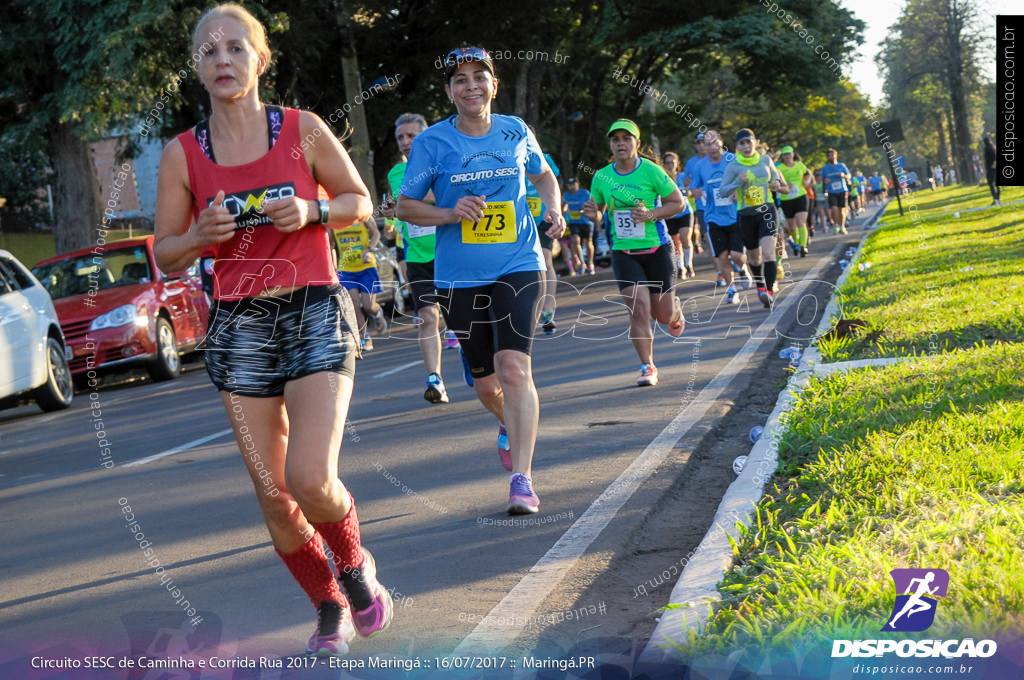
[[[819,237],[810,257],[788,260],[794,273],[780,297],[801,299],[787,305],[787,318],[771,312],[785,335],[806,344],[827,301],[826,286],[794,282],[858,237]],[[376,341],[357,367],[340,468],[396,610],[389,631],[353,643],[352,658],[432,663],[460,645],[770,318],[753,290],[742,293],[749,304],[721,304],[707,256],[696,262],[698,280],[679,287],[687,331],[676,342],[656,331],[660,385],[650,388],[635,384],[639,360],[626,337],[626,308],[605,299],[616,291],[610,271],[562,280],[559,329],[538,335],[534,351],[541,512],[513,525],[504,513],[508,474],[498,461],[497,426],[463,382],[458,352],[443,353],[452,402],[432,406],[422,398],[412,329],[395,327],[391,339]],[[828,272],[835,280],[838,267]],[[763,351],[790,344],[769,336]],[[128,530],[125,506],[144,537]],[[591,571],[625,545],[637,515],[608,517],[599,541],[579,545]],[[27,677],[20,672],[34,655],[288,657],[302,652],[313,627],[312,608],[270,547],[202,368],[171,383],[140,379],[79,393],[57,414],[35,407],[0,413],[0,540],[3,678]],[[573,563],[565,566],[571,571]],[[556,585],[583,593],[597,578],[574,576]],[[551,613],[542,606],[546,595],[523,615]],[[184,614],[185,599],[202,622]],[[510,623],[510,645],[522,630]]]

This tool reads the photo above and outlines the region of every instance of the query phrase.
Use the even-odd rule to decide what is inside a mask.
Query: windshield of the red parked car
[[[54,300],[90,290],[102,291],[153,281],[144,246],[70,257],[39,265],[32,273]]]

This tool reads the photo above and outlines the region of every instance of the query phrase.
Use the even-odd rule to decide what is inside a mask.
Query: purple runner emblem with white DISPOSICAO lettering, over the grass
[[[935,623],[939,600],[949,589],[945,569],[893,569],[889,572],[896,586],[896,601],[882,632],[920,633]],[[841,656],[918,656],[985,658],[996,651],[994,640],[834,640],[831,655]]]

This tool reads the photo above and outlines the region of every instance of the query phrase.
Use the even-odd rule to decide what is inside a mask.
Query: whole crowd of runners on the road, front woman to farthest
[[[401,161],[373,212],[323,120],[260,100],[270,52],[259,22],[238,5],[215,7],[197,25],[195,45],[212,26],[223,37],[199,68],[211,114],[164,151],[155,250],[165,270],[202,256],[212,274],[207,371],[273,547],[317,610],[309,653],[345,653],[356,634],[385,630],[393,610],[337,474],[355,359],[373,348],[371,330],[388,329],[377,301],[382,231],[394,235],[407,282],[424,398],[450,400],[441,353],[457,347],[466,382],[496,420],[499,463],[510,473],[506,510],[536,513],[541,405],[531,348],[538,329],[556,328],[556,244],[569,275],[589,277],[597,272],[596,238],[607,242],[630,310],[636,382],[656,385],[653,325],[683,334],[675,291],[696,275],[697,255],[707,250],[728,303],[755,288],[770,308],[786,244],[806,256],[816,228],[845,233],[850,211],[885,188],[878,173],[851,173],[834,150],[813,173],[792,146],[773,158],[749,128],[730,139],[734,152],[708,130],[685,163],[673,152],[653,160],[627,119],[609,124],[611,162],[589,189],[577,176],[561,187],[534,131],[492,113],[494,62],[466,47],[443,61],[454,113],[433,125],[415,113],[395,121]],[[324,141],[289,153],[311,134]],[[264,198],[283,185],[294,189],[289,198]],[[242,197],[230,205],[244,212],[229,210],[225,192]],[[261,238],[252,239],[256,227]],[[278,313],[266,314],[268,305]],[[268,475],[279,493],[265,492]]]

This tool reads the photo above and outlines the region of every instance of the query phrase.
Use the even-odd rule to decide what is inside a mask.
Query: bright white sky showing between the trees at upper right
[[[860,57],[853,65],[850,80],[856,83],[860,91],[870,97],[871,104],[877,107],[882,103],[882,76],[874,66],[874,55],[879,53],[879,43],[885,40],[889,27],[899,18],[906,1],[841,0],[841,4],[867,25],[864,31],[864,44],[860,46]],[[986,23],[991,24],[992,34],[995,32],[996,14],[1024,13],[1024,2],[1021,0],[978,0],[978,4],[986,15]],[[994,54],[986,56],[983,72],[994,80]]]

